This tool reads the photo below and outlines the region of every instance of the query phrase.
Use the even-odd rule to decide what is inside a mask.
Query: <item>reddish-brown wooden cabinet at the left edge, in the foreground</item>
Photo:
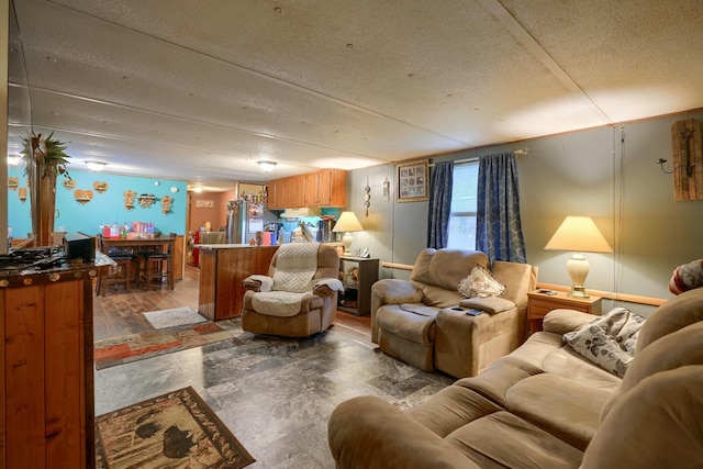
[[[94,467],[92,280],[105,271],[0,280],[0,468]]]

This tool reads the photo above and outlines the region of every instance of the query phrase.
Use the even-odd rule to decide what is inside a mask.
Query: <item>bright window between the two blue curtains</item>
[[[455,165],[447,247],[476,249],[478,161]]]

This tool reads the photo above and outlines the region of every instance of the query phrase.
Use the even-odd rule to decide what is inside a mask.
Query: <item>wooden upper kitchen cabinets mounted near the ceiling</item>
[[[345,206],[347,171],[323,169],[302,176],[274,179],[268,183],[269,210],[302,206]]]

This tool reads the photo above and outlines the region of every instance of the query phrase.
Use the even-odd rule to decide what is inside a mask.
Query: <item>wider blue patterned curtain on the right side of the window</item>
[[[515,155],[479,158],[476,248],[493,260],[526,263]]]

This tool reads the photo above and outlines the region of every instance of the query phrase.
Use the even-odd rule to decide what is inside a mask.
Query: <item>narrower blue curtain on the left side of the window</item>
[[[447,247],[449,214],[451,213],[451,181],[454,161],[435,163],[429,180],[429,220],[427,247]]]

